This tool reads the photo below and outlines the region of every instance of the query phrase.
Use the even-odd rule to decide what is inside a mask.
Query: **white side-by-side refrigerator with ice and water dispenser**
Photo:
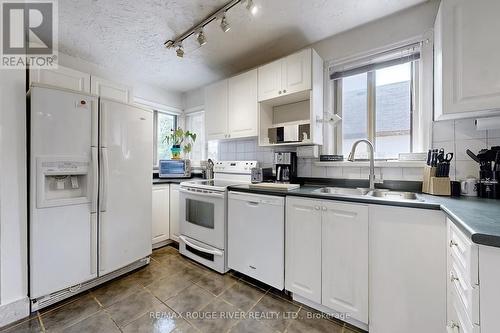
[[[151,254],[153,120],[80,92],[35,84],[28,96],[33,307]]]

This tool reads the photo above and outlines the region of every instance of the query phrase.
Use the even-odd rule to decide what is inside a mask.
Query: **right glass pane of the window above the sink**
[[[411,63],[375,73],[375,150],[377,158],[394,158],[411,149]]]

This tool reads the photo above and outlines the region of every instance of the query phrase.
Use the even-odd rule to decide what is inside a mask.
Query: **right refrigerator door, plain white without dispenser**
[[[100,100],[99,275],[151,254],[153,117]]]

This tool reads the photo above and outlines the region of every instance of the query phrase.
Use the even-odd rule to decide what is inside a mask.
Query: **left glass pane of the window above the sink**
[[[368,137],[367,74],[358,74],[342,79],[342,153],[351,151],[354,141]],[[359,146],[358,152],[366,148]]]

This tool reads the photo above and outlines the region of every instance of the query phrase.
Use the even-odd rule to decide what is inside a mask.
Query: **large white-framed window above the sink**
[[[337,153],[347,155],[359,139],[374,144],[378,159],[412,152],[419,58],[418,47],[412,46],[331,71],[334,110],[342,117]],[[365,145],[359,146],[356,157],[367,157]]]

